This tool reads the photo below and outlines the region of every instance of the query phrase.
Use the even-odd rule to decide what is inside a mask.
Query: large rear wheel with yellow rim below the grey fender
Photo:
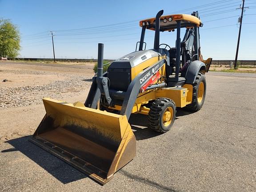
[[[185,109],[188,111],[199,111],[204,104],[206,94],[206,80],[202,72],[199,72],[196,76],[195,83],[193,85],[192,103],[188,104]]]

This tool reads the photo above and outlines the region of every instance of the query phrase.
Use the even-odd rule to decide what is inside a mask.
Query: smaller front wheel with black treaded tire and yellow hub
[[[148,112],[149,126],[156,132],[167,132],[171,129],[176,116],[176,106],[168,98],[156,99]]]

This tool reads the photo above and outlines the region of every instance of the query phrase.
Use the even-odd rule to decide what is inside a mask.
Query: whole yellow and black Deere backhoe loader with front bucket
[[[85,103],[44,98],[46,115],[30,139],[68,164],[105,184],[136,155],[128,123],[132,113],[148,116],[156,132],[172,128],[176,108],[198,111],[206,93],[205,72],[212,58],[200,53],[198,12],[141,20],[136,51],[113,61],[103,73],[103,44],[98,44],[97,75]],[[185,29],[183,40],[181,29]],[[146,50],[145,31],[155,32]],[[176,31],[176,46],[160,44],[160,32]],[[137,50],[138,48],[138,50]]]

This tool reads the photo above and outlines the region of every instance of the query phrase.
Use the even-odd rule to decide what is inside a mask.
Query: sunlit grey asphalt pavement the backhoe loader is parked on
[[[23,136],[0,143],[0,191],[255,192],[256,74],[209,72],[206,80],[203,108],[178,110],[165,134],[147,128],[145,116],[131,117],[137,155],[108,184],[101,186]],[[10,115],[20,120],[25,114]]]

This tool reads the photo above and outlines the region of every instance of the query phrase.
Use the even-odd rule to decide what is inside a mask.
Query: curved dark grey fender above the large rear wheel
[[[200,60],[192,61],[188,66],[188,71],[186,73],[186,84],[195,83],[196,76],[199,72],[206,72],[205,64]]]

